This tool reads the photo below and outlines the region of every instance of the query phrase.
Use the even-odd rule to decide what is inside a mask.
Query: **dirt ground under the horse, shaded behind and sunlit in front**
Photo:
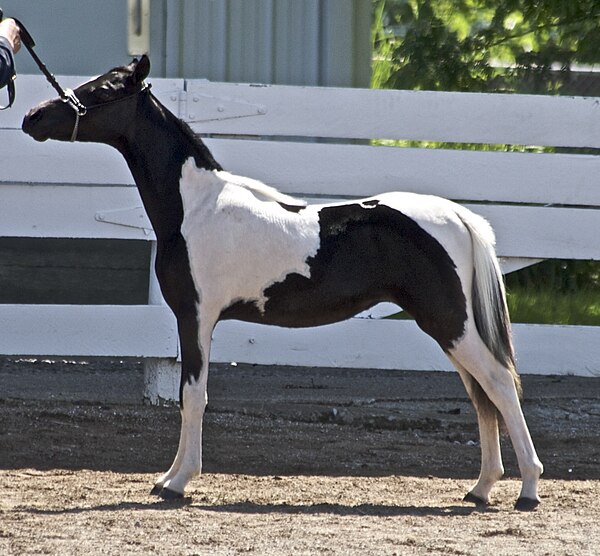
[[[475,416],[454,374],[215,366],[204,471],[149,495],[176,407],[135,361],[0,359],[0,555],[600,553],[600,378],[523,377],[542,505],[463,503]]]

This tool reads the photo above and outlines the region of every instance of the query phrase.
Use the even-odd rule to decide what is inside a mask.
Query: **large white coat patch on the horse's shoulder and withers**
[[[264,310],[264,291],[290,273],[309,277],[306,261],[319,248],[315,210],[298,214],[277,201],[301,205],[255,180],[182,167],[181,233],[186,240],[201,315],[217,319],[240,300]]]

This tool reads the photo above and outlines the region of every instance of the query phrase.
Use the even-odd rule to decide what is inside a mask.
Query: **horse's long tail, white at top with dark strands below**
[[[512,374],[520,396],[521,380],[516,370],[506,290],[494,248],[494,231],[487,220],[463,207],[458,206],[457,214],[469,231],[473,245],[471,300],[475,327],[495,359]]]

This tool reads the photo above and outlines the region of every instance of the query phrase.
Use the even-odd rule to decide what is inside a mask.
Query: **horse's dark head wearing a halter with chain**
[[[74,101],[57,98],[32,108],[23,119],[23,131],[37,141],[114,144],[131,124],[149,71],[150,60],[145,55],[112,69],[77,87]]]

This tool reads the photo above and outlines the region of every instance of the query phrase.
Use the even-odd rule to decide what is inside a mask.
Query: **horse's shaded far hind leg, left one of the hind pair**
[[[465,389],[473,402],[479,424],[481,444],[481,470],[477,483],[465,496],[465,502],[486,505],[490,501],[490,492],[494,484],[504,475],[500,434],[498,430],[498,410],[491,403],[477,381],[456,360],[450,357],[460,375]]]

